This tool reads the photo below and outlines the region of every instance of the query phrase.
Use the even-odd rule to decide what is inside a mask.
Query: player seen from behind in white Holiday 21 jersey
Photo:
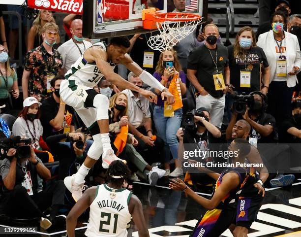
[[[70,210],[66,229],[68,237],[75,237],[77,218],[90,206],[87,237],[127,237],[127,225],[131,217],[139,237],[149,237],[140,200],[129,190],[122,188],[131,171],[121,161],[113,161],[106,175],[110,182],[89,188]]]

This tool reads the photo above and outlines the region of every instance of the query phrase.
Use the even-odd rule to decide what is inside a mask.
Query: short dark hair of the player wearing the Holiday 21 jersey
[[[110,164],[106,176],[110,182],[120,186],[124,180],[129,180],[131,170],[122,161],[117,160]],[[112,176],[123,176],[123,178],[112,178]]]

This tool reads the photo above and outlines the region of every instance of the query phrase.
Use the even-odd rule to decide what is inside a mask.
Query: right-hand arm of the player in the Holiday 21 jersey
[[[137,196],[132,195],[129,203],[130,213],[138,229],[139,237],[150,237],[142,209],[142,204]]]

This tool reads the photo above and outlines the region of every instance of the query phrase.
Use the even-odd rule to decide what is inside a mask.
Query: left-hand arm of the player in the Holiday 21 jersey
[[[96,187],[91,187],[84,192],[77,203],[72,207],[66,219],[66,230],[68,237],[75,237],[75,228],[77,224],[77,218],[83,214],[83,212],[90,206],[95,197]]]

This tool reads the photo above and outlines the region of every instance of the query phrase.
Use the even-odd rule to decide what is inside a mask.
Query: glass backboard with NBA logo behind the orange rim
[[[195,13],[206,22],[208,0],[84,0],[83,35],[106,38],[154,30],[143,29],[142,10],[155,7],[158,12]]]

